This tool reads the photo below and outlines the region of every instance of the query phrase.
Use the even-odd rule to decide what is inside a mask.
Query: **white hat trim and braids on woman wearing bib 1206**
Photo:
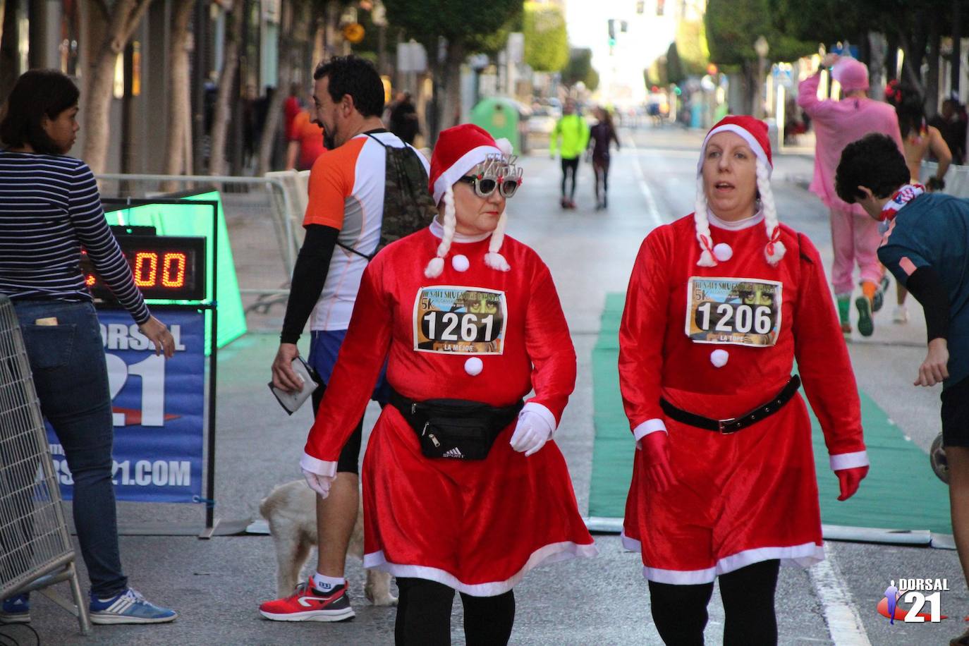
[[[777,220],[777,206],[774,194],[770,191],[771,167],[767,162],[766,153],[761,144],[746,130],[727,124],[716,127],[707,133],[700,150],[700,163],[697,165],[697,200],[694,205],[693,221],[697,231],[697,241],[700,243],[700,260],[697,264],[702,267],[713,267],[717,260],[713,255],[713,236],[710,233],[710,223],[707,217],[708,206],[706,194],[703,191],[703,159],[706,155],[706,143],[710,137],[720,132],[732,132],[743,138],[757,157],[757,191],[760,194],[761,209],[764,212],[764,228],[767,234],[767,244],[764,248],[764,258],[771,265],[776,265],[784,258],[787,248],[780,241],[780,224]]]

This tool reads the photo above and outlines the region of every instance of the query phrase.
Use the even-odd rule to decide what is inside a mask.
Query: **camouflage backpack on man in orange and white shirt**
[[[389,146],[370,133],[366,136],[384,146],[387,162],[384,170],[384,215],[380,225],[380,242],[373,254],[367,256],[356,249],[340,244],[347,251],[373,260],[381,249],[394,240],[421,231],[437,215],[437,207],[427,191],[427,171],[419,152],[404,145]],[[338,243],[339,244],[339,243]]]

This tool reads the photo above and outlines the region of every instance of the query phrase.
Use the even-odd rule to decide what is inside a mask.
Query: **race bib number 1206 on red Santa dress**
[[[686,334],[697,343],[772,346],[781,329],[783,287],[776,281],[693,276]]]

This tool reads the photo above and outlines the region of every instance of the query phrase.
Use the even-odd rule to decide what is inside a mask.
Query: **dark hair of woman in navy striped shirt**
[[[16,79],[0,120],[0,141],[10,148],[29,144],[34,152],[60,155],[61,150],[44,132],[42,119],[56,119],[78,105],[80,92],[65,74],[57,70],[30,70]]]

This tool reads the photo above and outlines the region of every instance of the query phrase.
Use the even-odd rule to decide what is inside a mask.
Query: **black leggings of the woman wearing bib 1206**
[[[777,616],[774,592],[780,561],[763,561],[722,574],[720,597],[724,602],[724,646],[775,646]],[[669,646],[703,646],[706,604],[712,583],[671,585],[649,582],[653,622]]]

